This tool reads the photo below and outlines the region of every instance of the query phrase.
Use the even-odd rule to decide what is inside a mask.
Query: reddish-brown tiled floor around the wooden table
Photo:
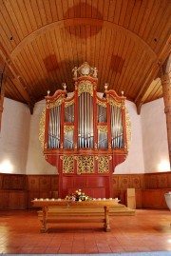
[[[171,251],[170,223],[169,210],[138,209],[135,216],[110,217],[111,232],[101,224],[51,224],[48,233],[40,233],[35,210],[0,211],[0,253]]]

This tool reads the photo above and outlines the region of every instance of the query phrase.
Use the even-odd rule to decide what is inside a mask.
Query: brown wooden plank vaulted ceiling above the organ
[[[140,108],[162,97],[170,51],[170,0],[0,0],[0,74],[5,96],[30,108],[66,83],[74,67],[98,69]]]

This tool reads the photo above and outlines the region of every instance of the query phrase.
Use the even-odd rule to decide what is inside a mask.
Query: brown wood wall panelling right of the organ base
[[[126,205],[126,189],[136,188],[137,208],[167,208],[164,193],[171,190],[171,172],[146,174],[114,174],[113,197]],[[163,189],[165,188],[165,189]]]

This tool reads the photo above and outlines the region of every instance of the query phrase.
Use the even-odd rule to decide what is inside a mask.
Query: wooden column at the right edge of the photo
[[[168,139],[168,149],[169,149],[169,159],[171,166],[171,81],[169,77],[169,72],[163,71],[161,68],[161,86],[163,92],[164,101],[164,112],[166,115],[166,126],[167,126],[167,139]]]

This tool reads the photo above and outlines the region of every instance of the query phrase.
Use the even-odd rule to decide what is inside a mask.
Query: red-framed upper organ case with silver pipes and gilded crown
[[[47,95],[46,154],[48,149],[60,150],[60,154],[74,150],[78,155],[86,150],[91,155],[93,150],[95,153],[96,149],[103,149],[113,157],[115,152],[127,153],[125,97],[108,90],[108,85],[104,92],[97,92],[94,70],[87,63],[74,68],[75,91],[67,93],[65,88]]]

